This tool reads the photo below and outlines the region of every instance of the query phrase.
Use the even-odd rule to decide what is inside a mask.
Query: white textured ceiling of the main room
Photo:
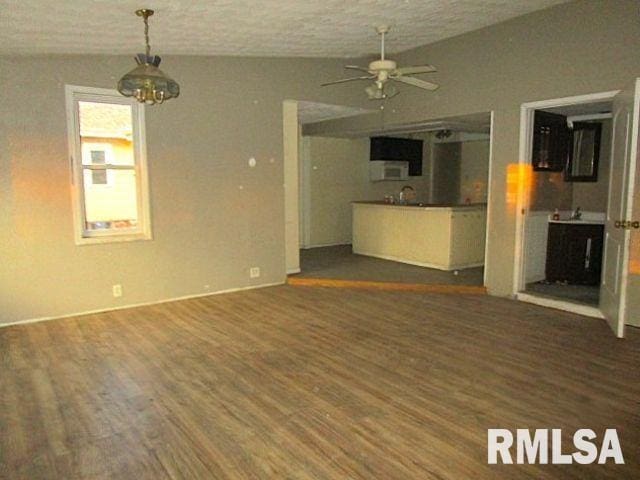
[[[162,54],[358,57],[391,53],[566,0],[0,0],[0,53],[143,51],[138,8],[153,8]]]

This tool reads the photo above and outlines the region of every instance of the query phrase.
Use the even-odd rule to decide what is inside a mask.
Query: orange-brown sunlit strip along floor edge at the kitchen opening
[[[426,283],[372,282],[367,280],[338,280],[334,278],[290,277],[288,285],[296,287],[354,288],[394,292],[449,293],[458,295],[486,295],[487,289],[475,285],[443,285]]]

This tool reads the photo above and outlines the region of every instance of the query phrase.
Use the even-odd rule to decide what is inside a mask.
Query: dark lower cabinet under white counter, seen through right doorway
[[[550,223],[546,278],[549,282],[598,285],[604,225]]]

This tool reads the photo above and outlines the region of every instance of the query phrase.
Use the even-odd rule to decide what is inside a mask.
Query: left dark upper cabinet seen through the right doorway
[[[535,171],[564,170],[569,144],[567,117],[536,110],[533,126],[531,164]]]

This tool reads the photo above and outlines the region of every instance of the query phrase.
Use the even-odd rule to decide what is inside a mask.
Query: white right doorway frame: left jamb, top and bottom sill
[[[590,93],[586,95],[576,95],[572,97],[553,98],[535,102],[523,103],[520,106],[520,145],[518,153],[518,172],[526,172],[530,164],[531,152],[533,148],[533,115],[535,110],[555,107],[565,107],[569,105],[580,105],[587,103],[597,103],[613,98],[620,90],[610,90],[606,92]],[[530,172],[529,172],[530,173]],[[557,300],[546,300],[535,297],[524,292],[525,281],[525,241],[526,241],[526,220],[529,212],[530,182],[526,181],[528,175],[522,173],[518,176],[518,193],[516,201],[516,244],[513,264],[513,296],[522,301],[535,303],[543,302],[544,305],[561,310],[566,310],[581,315],[597,318],[604,318],[599,308],[585,307],[571,302]]]

